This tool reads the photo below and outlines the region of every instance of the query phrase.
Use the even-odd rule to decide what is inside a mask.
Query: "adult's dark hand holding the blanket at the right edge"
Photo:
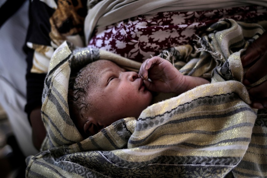
[[[248,86],[267,74],[267,32],[256,39],[241,56],[243,67],[249,67],[244,74],[243,84]],[[251,107],[267,108],[267,80],[251,87],[248,92],[252,100]]]

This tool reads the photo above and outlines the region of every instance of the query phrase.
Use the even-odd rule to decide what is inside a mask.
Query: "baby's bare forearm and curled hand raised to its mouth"
[[[139,76],[148,90],[164,93],[181,94],[196,86],[210,83],[200,77],[184,76],[169,61],[158,56],[143,62]]]

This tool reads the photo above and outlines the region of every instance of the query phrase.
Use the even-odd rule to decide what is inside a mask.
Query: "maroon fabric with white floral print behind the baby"
[[[142,62],[172,46],[192,44],[211,24],[224,18],[258,22],[267,10],[246,6],[198,12],[163,12],[140,15],[96,28],[88,47],[100,48]]]

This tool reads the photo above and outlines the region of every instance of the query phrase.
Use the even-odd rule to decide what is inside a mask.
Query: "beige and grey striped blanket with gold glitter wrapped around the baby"
[[[26,177],[266,177],[267,112],[249,106],[240,61],[263,32],[258,24],[227,19],[209,27],[196,46],[163,51],[159,55],[184,75],[211,83],[156,102],[139,118],[120,119],[87,139],[69,117],[70,71],[98,59],[135,71],[141,64],[63,43],[45,80],[47,136],[42,151],[26,159]]]

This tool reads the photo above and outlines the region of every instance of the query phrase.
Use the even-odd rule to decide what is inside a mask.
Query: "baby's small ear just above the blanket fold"
[[[97,134],[104,128],[103,126],[99,125],[96,121],[96,119],[90,117],[87,122],[83,125],[83,131],[86,135],[86,137],[92,136]]]

